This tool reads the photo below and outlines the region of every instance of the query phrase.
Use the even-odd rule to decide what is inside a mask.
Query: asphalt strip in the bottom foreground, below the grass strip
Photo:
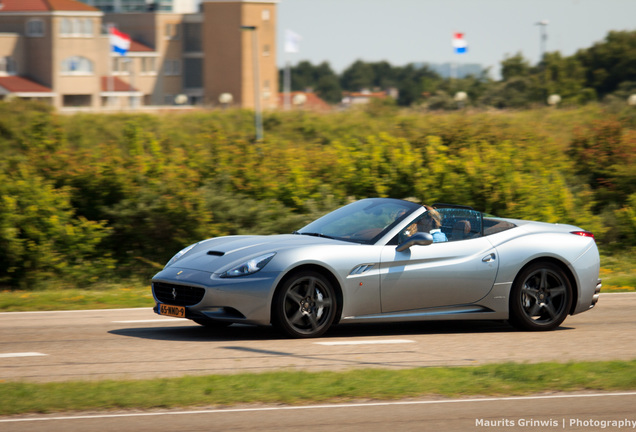
[[[5,432],[617,431],[636,392],[0,417]]]

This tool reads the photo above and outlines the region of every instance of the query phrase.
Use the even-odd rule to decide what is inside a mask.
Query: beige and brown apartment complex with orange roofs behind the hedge
[[[277,0],[206,0],[197,13],[109,13],[90,1],[0,0],[0,99],[87,110],[277,106]],[[111,26],[131,37],[125,56],[111,51]]]

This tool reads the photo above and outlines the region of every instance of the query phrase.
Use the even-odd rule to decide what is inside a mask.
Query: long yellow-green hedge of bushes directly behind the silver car
[[[0,286],[148,277],[195,241],[288,233],[350,200],[412,197],[636,245],[636,114],[422,115],[386,106],[57,115],[0,102]]]

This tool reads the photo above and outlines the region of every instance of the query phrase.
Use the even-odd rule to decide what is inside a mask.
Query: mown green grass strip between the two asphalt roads
[[[285,371],[130,381],[0,382],[0,415],[634,389],[636,360]]]

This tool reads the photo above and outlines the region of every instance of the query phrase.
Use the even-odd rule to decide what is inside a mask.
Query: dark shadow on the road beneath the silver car
[[[559,327],[555,331],[569,330]],[[435,321],[390,324],[341,324],[332,328],[321,339],[350,337],[408,336],[426,334],[479,334],[517,332],[503,321]],[[134,327],[111,330],[109,333],[160,341],[219,342],[287,339],[271,326],[234,324],[212,329],[186,322],[181,326]]]

